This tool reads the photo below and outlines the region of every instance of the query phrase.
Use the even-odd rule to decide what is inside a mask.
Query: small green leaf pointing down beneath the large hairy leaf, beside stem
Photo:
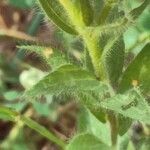
[[[99,86],[94,90],[80,90],[75,93],[74,96],[75,99],[86,106],[100,122],[106,122],[105,110],[99,106],[100,101],[109,96],[109,89],[106,84],[100,82]]]

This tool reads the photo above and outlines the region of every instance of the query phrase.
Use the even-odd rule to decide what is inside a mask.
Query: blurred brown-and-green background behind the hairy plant
[[[140,0],[127,0],[126,9],[136,7],[138,2]],[[128,56],[126,64],[149,36],[150,9],[147,8],[136,25],[124,34]],[[33,44],[35,48],[46,45],[48,48],[43,48],[45,56],[56,50],[82,64],[83,45],[80,37],[74,38],[46,21],[35,0],[0,0],[0,104],[28,114],[61,139],[68,140],[76,132],[78,112],[77,104],[70,97],[66,100],[49,95],[46,100],[32,104],[19,99],[25,89],[51,69],[36,53],[26,53],[19,48],[19,45]],[[60,61],[54,60],[52,65],[62,62],[60,58]],[[22,124],[0,120],[0,149],[57,150],[58,147]]]

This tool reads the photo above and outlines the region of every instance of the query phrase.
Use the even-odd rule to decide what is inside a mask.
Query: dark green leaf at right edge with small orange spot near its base
[[[124,92],[133,86],[140,86],[144,93],[150,90],[150,43],[135,57],[132,63],[125,70],[119,92]],[[134,83],[135,82],[135,83]],[[137,85],[134,85],[137,84]]]

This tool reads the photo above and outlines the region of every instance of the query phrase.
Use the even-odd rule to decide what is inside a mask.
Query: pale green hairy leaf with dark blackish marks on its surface
[[[150,106],[138,89],[109,98],[101,102],[101,106],[125,117],[150,124]]]

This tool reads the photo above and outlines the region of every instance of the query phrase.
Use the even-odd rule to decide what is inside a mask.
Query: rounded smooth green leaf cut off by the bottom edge
[[[67,146],[66,150],[110,150],[92,134],[85,133],[76,136]]]

